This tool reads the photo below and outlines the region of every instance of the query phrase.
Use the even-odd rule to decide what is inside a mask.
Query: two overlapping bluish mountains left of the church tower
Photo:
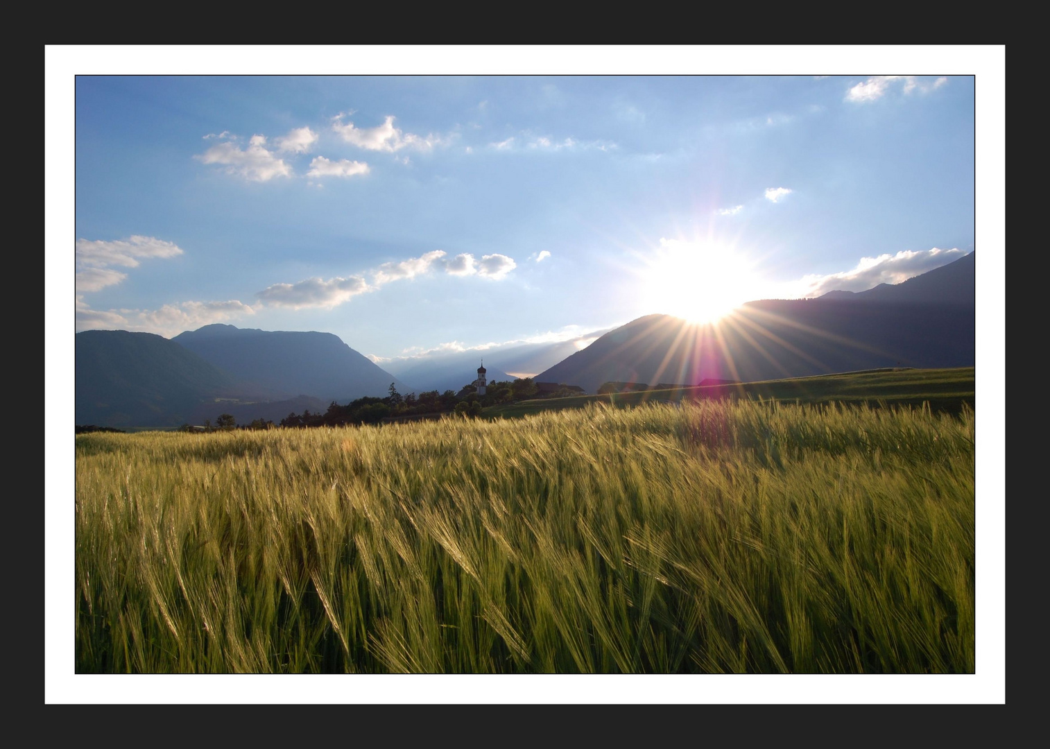
[[[177,426],[279,421],[336,400],[411,388],[331,333],[211,325],[172,339],[125,330],[76,335],[78,424]]]

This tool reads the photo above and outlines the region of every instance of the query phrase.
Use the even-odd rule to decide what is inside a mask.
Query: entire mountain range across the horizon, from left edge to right
[[[881,367],[974,363],[973,253],[902,284],[816,299],[751,301],[717,326],[647,315],[597,337],[485,351],[489,380],[534,372],[539,381],[697,384],[755,381]],[[174,426],[233,414],[238,423],[279,421],[335,400],[459,390],[478,351],[402,359],[398,375],[331,333],[209,325],[172,339],[91,330],[76,335],[76,421],[99,426]],[[555,357],[564,357],[553,363]],[[551,366],[552,365],[552,366]],[[392,365],[393,366],[393,365]],[[534,368],[534,369],[533,369]],[[410,384],[411,383],[411,384]]]

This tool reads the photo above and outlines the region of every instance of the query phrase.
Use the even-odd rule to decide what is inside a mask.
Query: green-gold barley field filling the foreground
[[[973,436],[728,400],[78,435],[77,671],[973,672]]]

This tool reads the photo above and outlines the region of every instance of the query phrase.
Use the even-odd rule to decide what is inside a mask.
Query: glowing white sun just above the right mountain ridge
[[[759,298],[752,264],[728,244],[660,240],[642,276],[646,309],[695,324]]]

